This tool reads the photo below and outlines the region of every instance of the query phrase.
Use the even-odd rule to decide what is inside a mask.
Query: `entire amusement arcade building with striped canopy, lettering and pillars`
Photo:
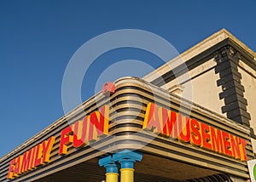
[[[0,181],[247,181],[255,69],[218,31],[142,79],[109,82],[3,156]]]

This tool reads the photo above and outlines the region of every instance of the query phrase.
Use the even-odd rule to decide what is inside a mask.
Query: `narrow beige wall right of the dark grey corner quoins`
[[[247,100],[247,112],[251,115],[250,125],[256,133],[256,71],[248,65],[239,62],[238,71],[241,73],[241,85],[245,88],[244,98]],[[253,151],[256,152],[256,140],[252,139]]]

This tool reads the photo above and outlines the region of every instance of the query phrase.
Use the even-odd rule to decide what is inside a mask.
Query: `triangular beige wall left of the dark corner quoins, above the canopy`
[[[226,114],[221,111],[221,107],[224,106],[224,100],[219,100],[218,97],[218,94],[222,92],[222,88],[217,86],[219,75],[215,74],[214,71],[216,65],[214,59],[208,60],[189,71],[190,81],[188,80],[188,75],[182,76],[183,78],[168,82],[162,88],[172,92],[175,85],[181,85],[183,93],[177,91],[172,93],[226,117]]]

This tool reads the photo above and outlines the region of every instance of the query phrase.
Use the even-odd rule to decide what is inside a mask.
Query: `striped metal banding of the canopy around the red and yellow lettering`
[[[1,160],[0,181],[8,181],[6,177],[11,159],[22,155],[25,151],[38,145],[50,136],[55,136],[56,139],[50,155],[49,164],[30,173],[25,173],[12,181],[39,179],[41,176],[60,171],[62,168],[73,166],[79,162],[90,160],[106,152],[119,151],[125,148],[136,149],[137,147],[144,152],[165,156],[172,160],[179,160],[199,167],[211,168],[244,178],[248,177],[246,162],[240,162],[228,156],[206,151],[193,145],[183,144],[177,140],[167,139],[163,136],[154,136],[151,132],[143,131],[142,125],[146,106],[149,102],[154,102],[156,105],[166,107],[172,111],[178,111],[185,116],[197,119],[199,122],[207,123],[209,126],[221,129],[229,134],[234,134],[242,139],[247,139],[247,156],[248,158],[253,158],[248,128],[218,116],[211,111],[207,111],[199,105],[192,105],[186,100],[168,94],[153,85],[148,86],[148,83],[141,82],[138,79],[123,78],[115,84],[116,92],[111,97],[108,98],[97,94],[96,98],[98,98],[98,100],[91,98],[90,101],[84,102],[76,111],[72,111],[68,114],[66,122],[65,120],[59,122],[54,127],[49,128],[44,134],[38,135],[36,139],[30,141],[29,145],[24,146],[20,151],[15,152],[14,155],[10,155],[4,158],[4,160]],[[88,104],[88,102],[90,104]],[[181,103],[183,103],[182,106],[180,106]],[[109,105],[110,107],[110,136],[92,142],[91,146],[95,148],[85,146],[82,149],[76,149],[73,145],[70,145],[68,147],[68,155],[59,156],[58,150],[61,130],[68,126],[67,120],[69,123],[79,121],[90,112],[98,111],[102,105]],[[191,111],[189,107],[191,107]],[[154,139],[154,137],[156,138]]]

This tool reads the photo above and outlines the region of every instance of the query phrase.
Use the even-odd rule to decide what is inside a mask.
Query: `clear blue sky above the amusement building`
[[[0,1],[0,156],[63,115],[65,68],[90,38],[117,29],[141,29],[164,37],[182,53],[224,27],[255,51],[255,7],[253,0]],[[154,55],[137,50],[104,56],[109,61],[160,65]],[[90,88],[104,70],[97,69],[99,65],[104,65],[101,59],[92,77],[84,78],[83,100],[94,94]]]

